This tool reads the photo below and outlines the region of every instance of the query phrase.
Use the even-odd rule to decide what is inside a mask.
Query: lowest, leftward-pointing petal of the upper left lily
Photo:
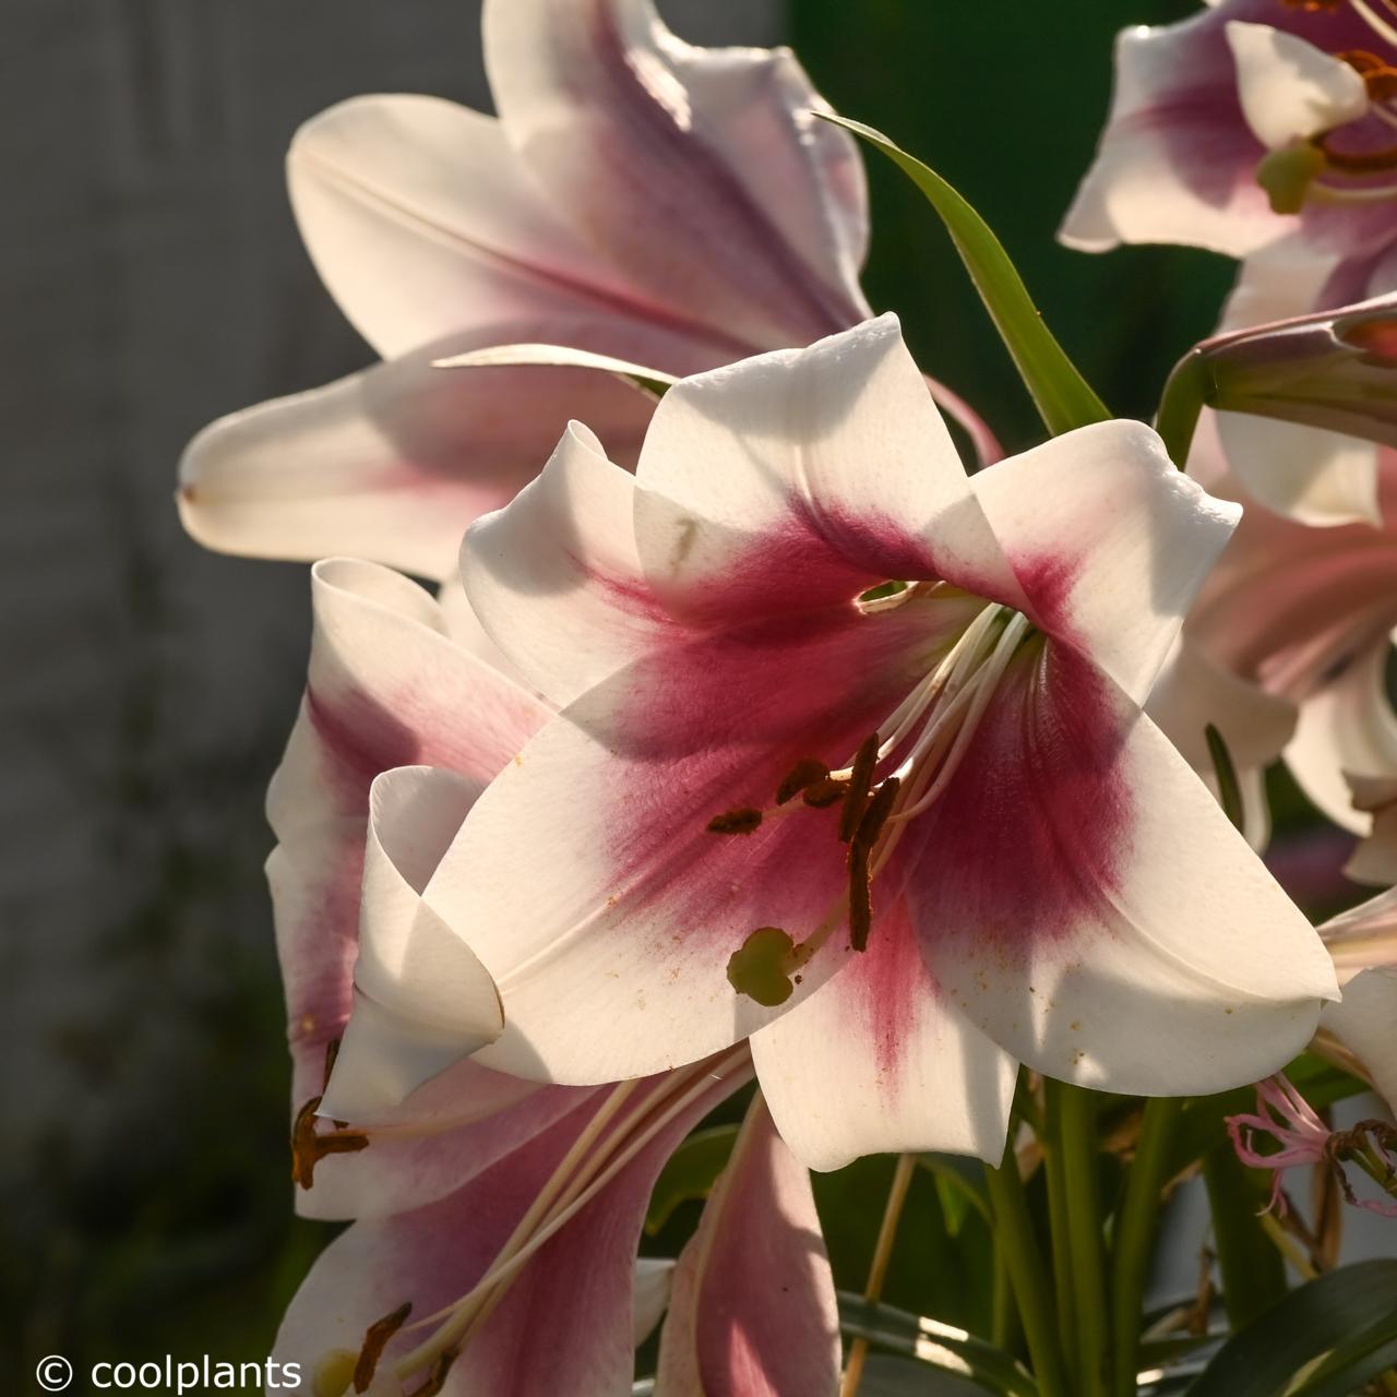
[[[391,281],[393,278],[380,278]],[[679,373],[718,351],[620,317],[546,319],[454,332],[310,393],[205,427],[180,462],[180,514],[208,548],[314,560],[348,553],[447,577],[465,527],[509,503],[573,416],[631,464],[651,404],[585,369],[436,369],[488,344],[546,338]]]

